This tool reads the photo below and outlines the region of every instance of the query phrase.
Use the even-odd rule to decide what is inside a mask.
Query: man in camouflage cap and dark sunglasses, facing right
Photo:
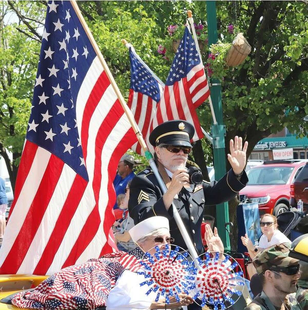
[[[259,253],[252,261],[260,275],[263,290],[245,310],[300,310],[295,293],[300,278],[299,261],[288,256],[290,245],[282,243]],[[287,296],[288,295],[288,296]]]

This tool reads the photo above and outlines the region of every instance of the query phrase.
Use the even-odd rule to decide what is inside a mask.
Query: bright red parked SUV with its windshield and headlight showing
[[[287,211],[290,185],[305,164],[302,160],[275,160],[252,167],[247,172],[248,185],[240,191],[241,198],[247,196],[247,203],[257,202],[260,215]]]

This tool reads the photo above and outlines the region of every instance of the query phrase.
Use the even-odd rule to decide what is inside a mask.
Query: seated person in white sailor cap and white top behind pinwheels
[[[154,216],[138,223],[129,230],[132,240],[138,245],[136,251],[155,253],[154,246],[164,249],[166,244],[173,242],[169,232],[169,221],[163,216]],[[130,252],[132,253],[132,252]],[[155,302],[153,295],[147,296],[147,285],[140,286],[144,282],[144,275],[130,270],[124,270],[118,278],[113,289],[110,290],[105,303],[107,310],[134,310],[134,309],[173,309],[187,306],[193,303],[193,299],[187,294],[179,294],[181,302],[176,302],[175,297],[170,297],[170,304],[165,304],[162,298]]]

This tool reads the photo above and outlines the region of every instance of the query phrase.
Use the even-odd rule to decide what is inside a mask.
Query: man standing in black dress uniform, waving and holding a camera
[[[182,120],[165,122],[151,132],[154,158],[168,190],[162,193],[155,175],[147,168],[132,180],[128,209],[135,224],[152,216],[167,217],[174,243],[186,250],[185,241],[173,218],[173,201],[196,250],[201,254],[204,206],[228,201],[245,187],[248,178],[243,169],[248,142],[242,148],[242,138],[231,140],[228,159],[232,169],[218,182],[203,181],[195,185],[190,184],[185,168],[188,153],[192,149],[190,139],[193,135],[194,127]]]

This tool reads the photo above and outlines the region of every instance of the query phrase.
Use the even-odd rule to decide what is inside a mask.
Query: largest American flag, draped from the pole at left
[[[112,185],[135,134],[72,4],[49,1],[0,273],[51,274],[112,251]]]

